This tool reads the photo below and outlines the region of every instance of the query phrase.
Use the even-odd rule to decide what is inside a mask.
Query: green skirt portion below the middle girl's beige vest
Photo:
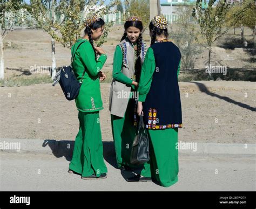
[[[124,117],[111,114],[112,134],[118,169],[122,166],[136,167],[130,163],[131,148],[136,133],[134,108],[135,100],[129,99]]]

